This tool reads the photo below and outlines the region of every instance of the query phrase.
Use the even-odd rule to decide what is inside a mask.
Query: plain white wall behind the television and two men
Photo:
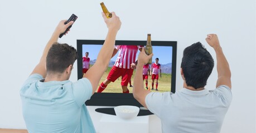
[[[0,128],[26,128],[19,90],[38,63],[42,50],[61,19],[74,13],[79,18],[59,42],[76,47],[76,39],[104,39],[107,27],[100,14],[102,1],[13,0],[0,4]],[[176,40],[177,83],[182,88],[179,66],[188,45],[206,44],[208,33],[219,35],[232,72],[233,102],[221,132],[255,132],[255,1],[104,1],[122,21],[117,39]],[[76,63],[75,63],[76,65]],[[71,75],[76,81],[77,69]],[[216,67],[206,88],[216,83]],[[96,129],[100,114],[90,107]],[[158,120],[151,116],[151,125]],[[160,132],[160,123],[151,132]]]

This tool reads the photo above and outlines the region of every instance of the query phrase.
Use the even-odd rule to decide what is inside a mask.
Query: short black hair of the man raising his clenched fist
[[[206,48],[197,42],[184,49],[181,68],[187,86],[202,88],[214,68],[214,59]]]

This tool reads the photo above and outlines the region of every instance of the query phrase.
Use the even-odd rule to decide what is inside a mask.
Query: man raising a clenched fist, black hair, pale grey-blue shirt
[[[231,103],[231,72],[216,34],[207,35],[206,42],[215,50],[218,80],[216,89],[205,85],[214,59],[200,42],[183,51],[181,76],[183,88],[175,94],[158,93],[143,89],[142,70],[151,55],[144,49],[139,53],[134,76],[133,96],[149,111],[160,117],[162,132],[220,132],[221,125]]]

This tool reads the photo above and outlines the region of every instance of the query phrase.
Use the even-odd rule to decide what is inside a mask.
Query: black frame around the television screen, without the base
[[[76,40],[78,51],[78,80],[83,78],[82,72],[82,58],[83,58],[83,45],[103,45],[105,40],[90,40],[90,39],[78,39]],[[146,40],[115,40],[115,45],[146,45]],[[176,58],[177,58],[177,41],[158,41],[152,40],[152,46],[169,46],[172,47],[172,78],[171,78],[171,92],[175,93],[176,87]],[[133,98],[133,94],[122,93],[94,93],[90,100],[85,102],[89,106],[119,106],[119,105],[133,105],[143,107]]]

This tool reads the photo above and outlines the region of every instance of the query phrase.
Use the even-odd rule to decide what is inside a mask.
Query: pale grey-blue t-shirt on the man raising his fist
[[[152,92],[146,96],[146,105],[161,119],[162,132],[217,133],[231,99],[230,88],[221,85],[214,90],[183,88],[175,94]]]

